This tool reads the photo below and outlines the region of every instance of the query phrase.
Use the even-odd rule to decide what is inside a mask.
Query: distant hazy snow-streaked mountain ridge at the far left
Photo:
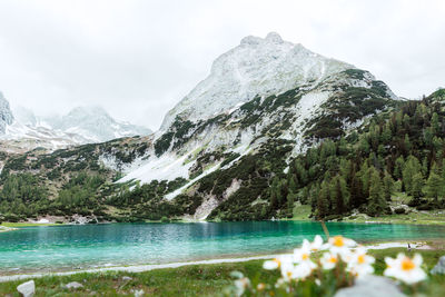
[[[101,107],[77,107],[67,115],[51,117],[36,116],[23,107],[11,111],[8,100],[0,93],[0,142],[7,151],[38,147],[55,150],[150,133],[146,127],[113,119]]]

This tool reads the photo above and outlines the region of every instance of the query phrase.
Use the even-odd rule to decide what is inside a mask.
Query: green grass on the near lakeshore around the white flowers
[[[382,275],[385,269],[384,258],[395,257],[403,248],[390,248],[384,250],[372,250],[369,254],[376,257],[376,273]],[[408,253],[422,254],[424,263],[429,271],[438,258],[445,254],[444,250],[418,250]],[[235,264],[194,265],[180,268],[158,269],[139,274],[130,273],[100,273],[77,274],[72,276],[47,276],[36,278],[36,296],[128,296],[135,290],[142,289],[144,296],[219,296],[224,288],[233,284],[230,273],[241,271],[249,278],[260,277],[261,280],[274,281],[277,274],[266,271],[261,268],[264,260],[251,260]],[[129,276],[131,280],[123,280]],[[0,296],[19,296],[17,286],[26,280],[0,283]],[[83,288],[68,290],[65,284],[78,281]],[[425,296],[445,296],[445,276],[429,276],[428,280],[419,287],[419,293]]]

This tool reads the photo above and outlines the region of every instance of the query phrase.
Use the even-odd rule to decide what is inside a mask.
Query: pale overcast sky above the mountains
[[[0,0],[0,90],[40,115],[99,105],[158,129],[248,34],[372,71],[403,97],[445,87],[445,1]]]

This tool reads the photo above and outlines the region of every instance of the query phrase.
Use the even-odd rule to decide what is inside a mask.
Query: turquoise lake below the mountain
[[[330,222],[357,241],[443,238],[438,226]],[[323,234],[318,222],[248,221],[27,227],[0,234],[0,275],[164,264],[290,250]]]

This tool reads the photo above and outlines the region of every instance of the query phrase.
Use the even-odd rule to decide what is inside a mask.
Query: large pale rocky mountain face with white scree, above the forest
[[[276,33],[247,37],[167,113],[145,160],[128,166],[122,181],[189,179],[200,172],[199,157],[214,155],[215,168],[222,161],[216,155],[244,156],[269,139],[291,141],[295,155],[345,135],[393,100],[389,88],[365,70]],[[105,157],[116,167],[112,156]]]

